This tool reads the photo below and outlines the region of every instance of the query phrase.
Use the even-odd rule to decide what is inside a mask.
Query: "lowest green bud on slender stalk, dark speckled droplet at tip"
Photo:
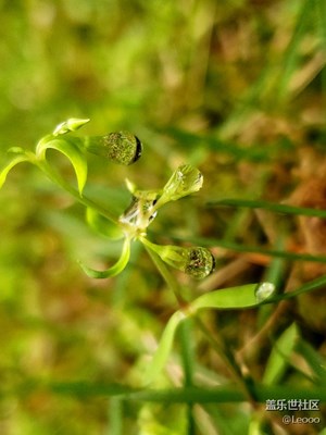
[[[147,238],[142,238],[141,241],[161,257],[165,263],[195,278],[202,279],[214,271],[215,259],[206,248],[162,246],[152,244]]]

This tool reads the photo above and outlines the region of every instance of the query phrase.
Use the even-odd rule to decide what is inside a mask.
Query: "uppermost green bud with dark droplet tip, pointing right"
[[[124,165],[135,163],[142,151],[141,141],[128,132],[89,136],[85,138],[84,145],[87,151]]]

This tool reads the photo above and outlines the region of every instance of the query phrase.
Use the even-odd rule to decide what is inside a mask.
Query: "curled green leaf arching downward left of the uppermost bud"
[[[40,140],[36,148],[36,154],[39,159],[46,159],[46,152],[49,148],[54,149],[63,153],[72,163],[77,178],[79,195],[83,195],[83,190],[87,181],[87,160],[83,151],[78,147],[78,138],[65,137],[57,139],[53,136]]]

